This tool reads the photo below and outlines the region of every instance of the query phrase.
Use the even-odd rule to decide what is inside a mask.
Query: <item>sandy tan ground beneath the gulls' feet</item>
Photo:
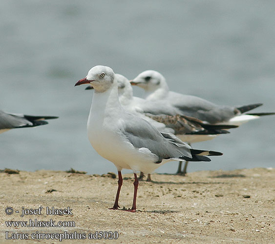
[[[133,175],[123,177],[120,206],[128,208],[132,203]],[[0,243],[275,243],[275,169],[200,171],[186,177],[153,174],[152,179],[152,183],[140,182],[138,211],[129,213],[108,210],[114,203],[117,179],[44,170],[0,173]],[[40,215],[21,217],[22,207],[40,206]],[[13,214],[5,213],[7,207],[13,208]],[[69,207],[72,214],[47,215],[46,207]],[[6,221],[30,223],[30,219],[52,219],[54,224],[61,221],[75,227],[6,226]],[[117,231],[119,236],[111,240],[88,239],[96,231],[98,237],[99,231]],[[85,234],[86,239],[35,239],[36,233],[65,232],[71,238],[76,238],[74,233],[82,238],[81,234]],[[26,238],[15,233],[28,234],[28,239],[6,239]]]

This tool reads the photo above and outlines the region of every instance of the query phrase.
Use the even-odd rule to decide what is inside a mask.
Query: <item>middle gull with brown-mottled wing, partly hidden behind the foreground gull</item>
[[[181,111],[165,101],[147,101],[134,97],[130,81],[123,75],[115,74],[118,83],[119,101],[123,108],[140,118],[143,118],[154,125],[160,132],[175,134],[184,142],[202,142],[212,140],[218,134],[226,134],[225,129],[235,128],[235,125],[211,125],[202,121],[184,116]],[[87,90],[93,89],[91,85]],[[181,161],[178,171],[181,171]],[[139,179],[143,179],[144,173],[141,172]],[[151,181],[148,174],[147,181]]]

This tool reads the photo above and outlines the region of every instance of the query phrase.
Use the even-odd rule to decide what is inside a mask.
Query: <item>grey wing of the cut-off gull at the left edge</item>
[[[32,123],[26,120],[23,115],[7,114],[0,111],[0,129],[13,129],[27,125],[31,126]]]

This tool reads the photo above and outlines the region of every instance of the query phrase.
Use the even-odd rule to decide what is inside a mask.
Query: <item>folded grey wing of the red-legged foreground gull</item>
[[[192,158],[190,146],[171,134],[160,133],[146,120],[137,116],[125,114],[123,134],[136,148],[148,148],[157,155],[159,162],[163,159],[179,158],[182,156]],[[169,136],[167,136],[169,135]]]

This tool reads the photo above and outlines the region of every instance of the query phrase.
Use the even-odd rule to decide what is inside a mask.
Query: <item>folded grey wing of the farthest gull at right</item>
[[[178,108],[182,114],[209,123],[226,122],[239,113],[234,106],[216,105],[190,95],[170,92],[168,99],[170,104]]]

